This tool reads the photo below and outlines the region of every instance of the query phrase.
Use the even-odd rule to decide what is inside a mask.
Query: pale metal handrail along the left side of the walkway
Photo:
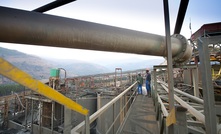
[[[130,87],[125,89],[117,97],[112,99],[106,105],[101,107],[98,111],[96,111],[94,114],[92,114],[89,117],[89,123],[91,124],[92,122],[94,122],[96,119],[98,119],[103,113],[105,113],[110,108],[114,109],[114,106],[115,106],[116,102],[120,101],[121,102],[120,112],[116,116],[113,116],[113,118],[114,118],[113,122],[109,125],[109,128],[104,133],[108,134],[108,133],[117,132],[118,129],[119,129],[119,126],[118,126],[118,128],[115,128],[115,123],[116,123],[117,120],[119,120],[119,118],[121,118],[120,124],[123,123],[123,120],[126,117],[126,113],[129,109],[128,107],[131,106],[131,104],[133,103],[134,98],[136,97],[136,90],[132,90],[132,89],[136,88],[136,84],[137,84],[137,82],[133,83]],[[127,97],[129,97],[129,98],[127,98]],[[113,112],[114,112],[114,110],[113,110]],[[81,122],[79,125],[77,125],[76,127],[74,127],[71,130],[71,134],[84,134],[85,133],[85,126],[86,126],[85,121]]]

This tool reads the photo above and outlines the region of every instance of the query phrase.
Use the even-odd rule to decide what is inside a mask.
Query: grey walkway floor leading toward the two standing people
[[[138,95],[120,134],[158,134],[153,99]]]

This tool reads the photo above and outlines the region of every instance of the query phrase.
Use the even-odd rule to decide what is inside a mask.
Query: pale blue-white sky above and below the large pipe
[[[0,6],[33,10],[51,2],[50,0],[1,0]],[[169,0],[171,33],[174,31],[180,0]],[[194,33],[203,24],[221,22],[221,0],[190,0],[181,34],[187,39],[191,36],[189,23],[191,21]],[[79,20],[96,22],[111,26],[138,30],[147,33],[165,34],[163,0],[77,0],[65,6],[46,12]],[[0,47],[19,50],[28,54],[103,62],[122,60],[126,58],[156,58],[136,54],[121,54],[89,50],[49,48],[31,45],[0,43]],[[79,58],[80,57],[80,58]]]

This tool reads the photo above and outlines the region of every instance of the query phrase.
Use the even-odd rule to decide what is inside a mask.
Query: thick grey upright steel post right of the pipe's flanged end
[[[200,57],[200,69],[202,74],[202,87],[203,87],[203,100],[204,100],[204,114],[205,114],[205,127],[207,134],[217,133],[216,122],[216,109],[214,88],[212,83],[212,73],[209,57],[209,49],[206,38],[199,38],[197,40],[199,57]]]

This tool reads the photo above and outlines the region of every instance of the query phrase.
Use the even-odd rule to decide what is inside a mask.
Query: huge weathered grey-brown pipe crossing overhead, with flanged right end
[[[0,7],[0,18],[1,42],[166,56],[160,35],[6,7]],[[191,57],[183,36],[171,42],[175,62]]]

